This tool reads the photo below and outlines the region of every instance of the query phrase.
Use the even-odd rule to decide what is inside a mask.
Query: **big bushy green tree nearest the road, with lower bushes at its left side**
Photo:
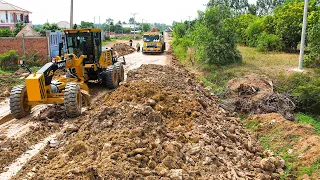
[[[172,42],[174,53],[183,59],[188,56],[188,49],[192,47],[199,63],[222,66],[241,62],[242,57],[236,49],[236,31],[232,17],[230,8],[216,5],[207,8],[205,12],[199,12],[199,20],[192,22],[190,29],[188,22],[176,23]]]

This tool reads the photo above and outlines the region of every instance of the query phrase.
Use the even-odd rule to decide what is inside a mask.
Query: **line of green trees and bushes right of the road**
[[[308,3],[304,62],[309,67],[320,66],[319,2]],[[247,0],[210,0],[197,20],[174,23],[173,46],[181,55],[194,47],[196,59],[216,65],[241,61],[237,44],[262,52],[295,52],[301,40],[303,10],[302,0],[258,0],[256,4]]]

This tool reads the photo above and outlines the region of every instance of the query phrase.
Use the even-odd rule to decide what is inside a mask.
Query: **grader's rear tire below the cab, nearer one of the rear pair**
[[[119,85],[118,71],[115,66],[109,66],[103,73],[103,84],[109,89],[115,89]]]

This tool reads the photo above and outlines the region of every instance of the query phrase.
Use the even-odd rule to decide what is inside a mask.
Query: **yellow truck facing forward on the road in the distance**
[[[163,33],[146,32],[143,34],[142,53],[163,53],[165,49]]]

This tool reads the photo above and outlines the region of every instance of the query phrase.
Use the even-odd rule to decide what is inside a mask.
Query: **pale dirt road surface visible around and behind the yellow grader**
[[[140,67],[142,64],[168,63],[167,54],[144,55],[133,53],[125,56],[127,65],[125,73]],[[93,106],[99,106],[99,101],[111,91],[93,86],[90,92]],[[54,144],[55,138],[72,128],[72,120],[62,115],[63,111],[53,106],[36,106],[32,114],[21,120],[10,115],[8,99],[0,105],[0,179],[10,179],[25,163],[39,153],[48,144]],[[94,108],[94,107],[93,107]],[[45,116],[45,117],[42,117]]]

